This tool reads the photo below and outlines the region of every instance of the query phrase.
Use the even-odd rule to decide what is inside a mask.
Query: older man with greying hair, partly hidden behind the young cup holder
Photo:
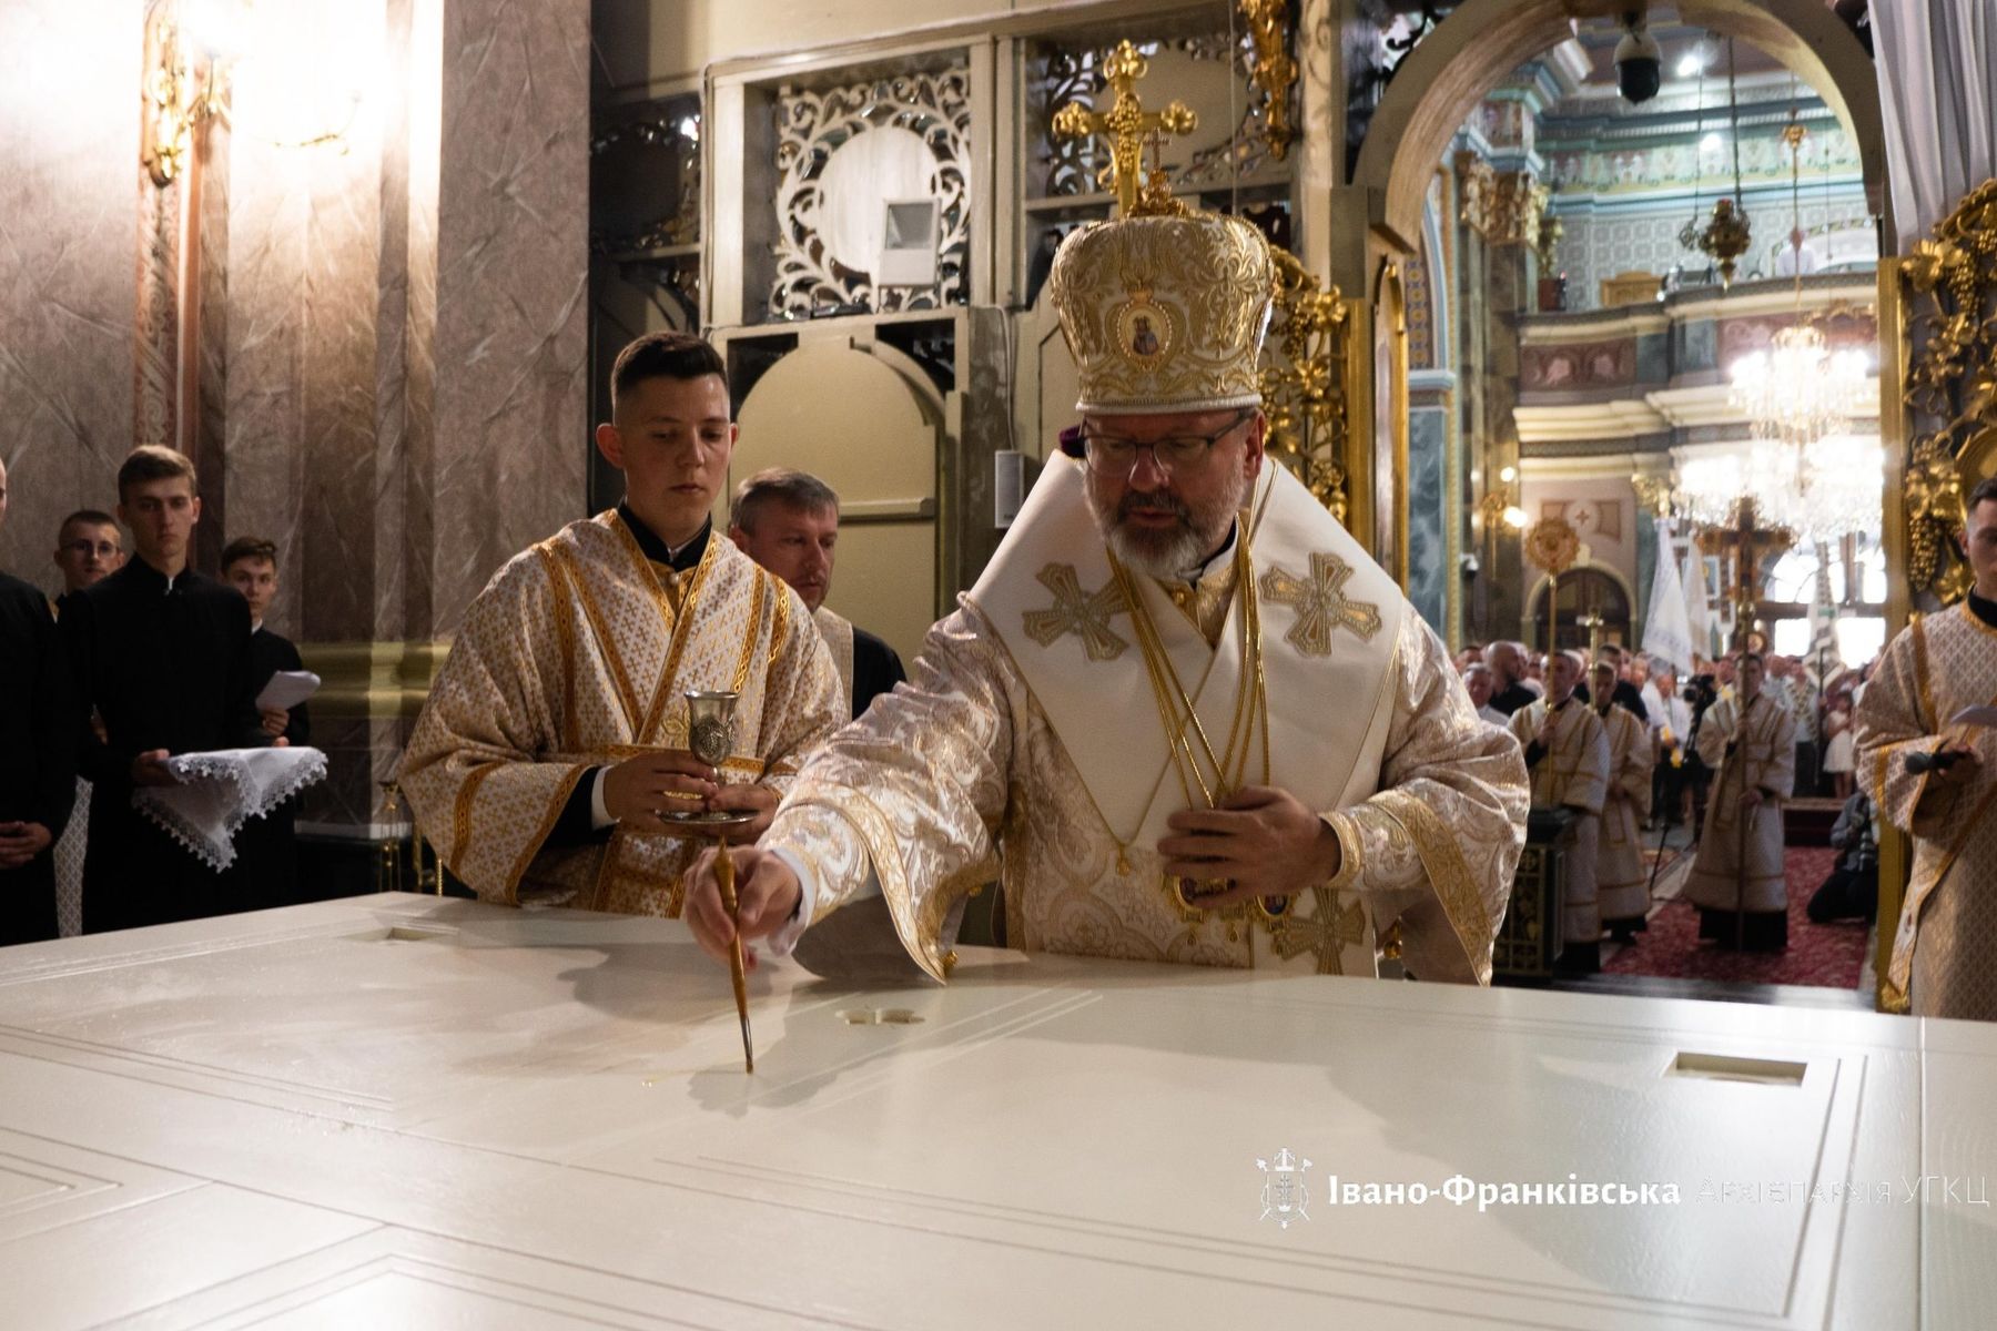
[[[767,467],[735,489],[729,513],[729,539],[805,599],[851,698],[849,720],[909,678],[893,647],[825,607],[839,547],[839,495],[831,485],[805,471]]]

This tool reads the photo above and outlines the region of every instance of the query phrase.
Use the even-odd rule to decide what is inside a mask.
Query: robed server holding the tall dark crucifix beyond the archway
[[[1781,806],[1795,784],[1795,716],[1761,692],[1763,678],[1761,657],[1741,655],[1737,692],[1699,722],[1713,786],[1685,898],[1699,908],[1699,938],[1779,952],[1789,946]]]

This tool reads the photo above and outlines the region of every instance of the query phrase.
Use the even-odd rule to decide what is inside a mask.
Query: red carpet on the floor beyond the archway
[[[1699,942],[1699,910],[1679,898],[1650,918],[1650,928],[1638,934],[1642,942],[1618,952],[1602,970],[1612,976],[1857,988],[1871,930],[1863,920],[1811,924],[1803,914],[1809,896],[1829,876],[1831,862],[1829,848],[1789,846],[1787,952],[1727,952]]]

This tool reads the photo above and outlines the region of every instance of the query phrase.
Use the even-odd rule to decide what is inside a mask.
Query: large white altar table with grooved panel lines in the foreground
[[[979,950],[751,994],[745,1076],[667,920],[4,950],[0,1323],[1997,1325],[1997,1028]]]

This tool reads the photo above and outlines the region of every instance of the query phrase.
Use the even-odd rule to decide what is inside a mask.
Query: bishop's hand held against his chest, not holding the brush
[[[1168,826],[1172,834],[1158,840],[1166,874],[1234,884],[1198,898],[1202,908],[1306,892],[1332,878],[1342,860],[1338,834],[1324,818],[1274,786],[1242,786],[1220,808],[1176,812]]]

